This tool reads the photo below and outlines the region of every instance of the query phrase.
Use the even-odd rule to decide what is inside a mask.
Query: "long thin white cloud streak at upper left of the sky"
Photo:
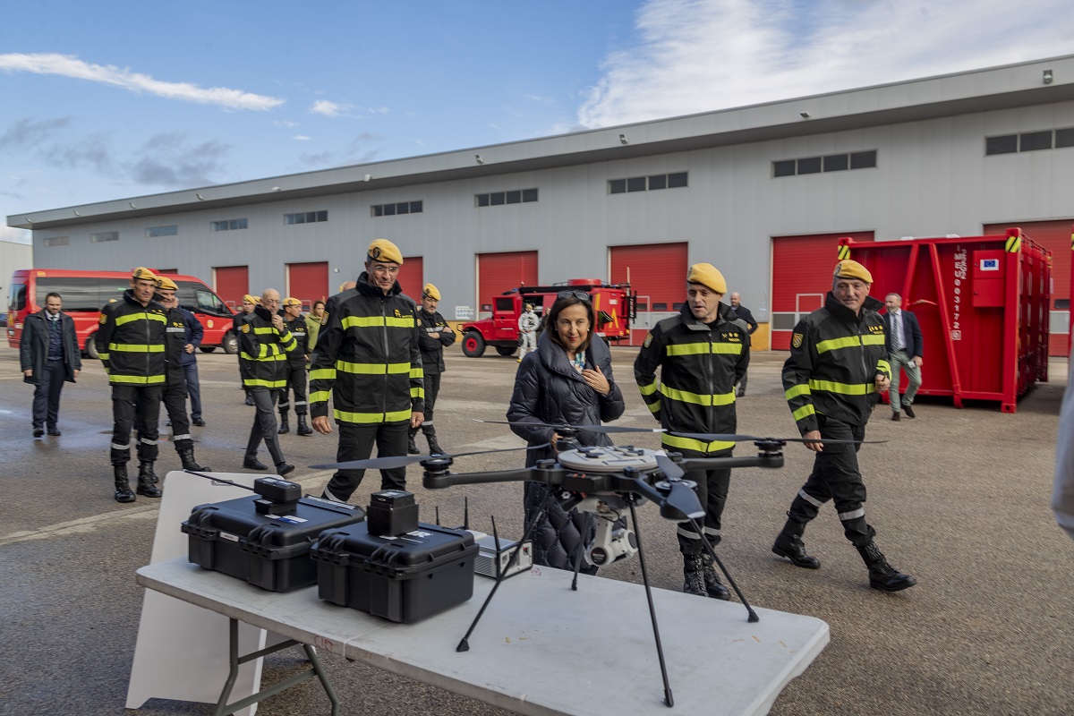
[[[284,104],[284,100],[264,94],[253,94],[227,87],[199,87],[186,82],[162,82],[149,75],[131,72],[112,64],[91,64],[71,55],[39,53],[33,55],[0,55],[0,71],[33,72],[88,79],[114,85],[132,92],[147,92],[169,100],[215,104],[226,109],[266,111]]]

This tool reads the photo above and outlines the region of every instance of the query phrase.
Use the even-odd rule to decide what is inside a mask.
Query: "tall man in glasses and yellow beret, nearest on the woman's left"
[[[309,370],[314,429],[332,433],[329,398],[339,427],[337,462],[406,455],[409,428],[424,420],[417,307],[396,280],[403,254],[391,242],[369,244],[365,271],[353,289],[331,298],[328,322],[317,336]],[[325,499],[346,502],[364,469],[339,469],[324,487]],[[380,471],[383,489],[404,489],[406,468]]]

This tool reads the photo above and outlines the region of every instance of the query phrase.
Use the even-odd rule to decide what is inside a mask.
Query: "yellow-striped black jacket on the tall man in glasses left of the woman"
[[[314,418],[329,414],[330,395],[340,423],[396,423],[424,410],[416,310],[397,281],[384,295],[364,273],[329,298],[309,367]]]

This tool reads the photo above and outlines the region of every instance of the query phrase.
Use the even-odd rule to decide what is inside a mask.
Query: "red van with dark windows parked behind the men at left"
[[[227,353],[238,352],[238,341],[231,330],[231,310],[201,279],[182,274],[166,274],[179,287],[179,305],[191,311],[205,337],[201,349],[211,352],[222,346]],[[8,292],[8,345],[18,348],[23,321],[44,308],[45,295],[55,291],[63,297],[63,312],[74,319],[78,345],[89,357],[97,357],[93,334],[97,333],[101,306],[122,295],[130,288],[130,272],[69,271],[32,268],[16,271]]]

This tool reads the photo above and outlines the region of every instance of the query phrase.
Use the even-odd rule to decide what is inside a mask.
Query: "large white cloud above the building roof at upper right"
[[[1069,0],[649,0],[578,109],[609,127],[1071,52]]]

